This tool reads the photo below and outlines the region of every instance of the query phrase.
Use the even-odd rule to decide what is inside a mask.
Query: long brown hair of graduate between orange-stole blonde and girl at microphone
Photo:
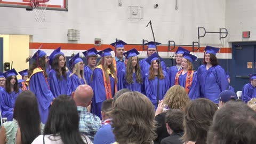
[[[137,56],[133,56],[137,57]],[[127,61],[126,65],[126,73],[125,73],[125,79],[128,84],[132,84],[133,82],[133,66],[132,66],[132,58],[130,57]],[[137,65],[135,66],[135,74],[136,74],[136,81],[138,83],[142,83],[142,76],[141,76],[141,70],[140,70],[140,64],[139,64],[139,58],[137,57]]]

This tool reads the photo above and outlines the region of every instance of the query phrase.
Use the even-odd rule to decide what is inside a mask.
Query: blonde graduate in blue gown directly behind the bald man
[[[87,84],[84,78],[84,62],[79,58],[79,52],[68,61],[68,65],[72,69],[69,77],[71,80],[71,90],[74,92],[77,86]]]

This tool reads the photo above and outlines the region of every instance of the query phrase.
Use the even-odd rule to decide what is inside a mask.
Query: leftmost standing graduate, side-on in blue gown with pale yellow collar
[[[51,102],[54,98],[47,81],[48,75],[45,71],[46,62],[48,59],[46,57],[46,53],[41,50],[37,50],[32,57],[27,58],[26,62],[28,62],[31,58],[33,58],[35,61],[29,68],[29,78],[27,79],[27,83],[29,90],[36,95],[41,120],[42,123],[45,124],[48,118]]]

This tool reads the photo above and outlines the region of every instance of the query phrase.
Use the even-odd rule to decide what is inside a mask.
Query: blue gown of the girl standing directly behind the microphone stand
[[[164,78],[159,79],[159,100],[162,100],[164,98],[164,95],[166,91],[169,89],[169,78],[168,74],[163,71]],[[155,79],[149,80],[149,73],[145,75],[145,91],[147,97],[150,99],[150,101],[155,106],[155,110],[157,108],[157,76],[155,76]]]

